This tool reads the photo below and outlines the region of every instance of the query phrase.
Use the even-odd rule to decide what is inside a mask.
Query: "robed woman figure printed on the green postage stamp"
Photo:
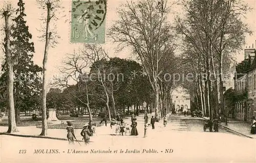
[[[83,37],[84,40],[89,39],[95,39],[97,40],[97,34],[95,34],[92,30],[90,20],[92,16],[95,16],[93,14],[93,6],[90,6],[87,8],[87,10],[84,10],[83,14],[77,19],[77,21],[82,24],[83,23]]]

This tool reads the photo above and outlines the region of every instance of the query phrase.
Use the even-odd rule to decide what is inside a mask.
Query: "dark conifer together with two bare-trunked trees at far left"
[[[24,20],[25,7],[23,0],[17,3],[15,10],[11,3],[7,2],[1,9],[4,18],[4,54],[5,62],[2,65],[1,75],[1,104],[8,106],[9,127],[7,132],[17,131],[16,122],[19,123],[19,111],[26,108],[41,108],[42,105],[42,132],[40,135],[46,135],[46,66],[47,56],[50,45],[56,43],[57,36],[53,37],[55,28],[50,30],[50,21],[54,20],[55,11],[59,7],[58,0],[38,0],[38,7],[47,11],[47,15],[43,14],[42,36],[45,39],[45,51],[43,67],[40,68],[33,64],[32,58],[34,51],[34,43],[29,28]],[[16,11],[16,12],[15,12]],[[45,27],[44,27],[45,26]],[[42,82],[40,75],[42,74]],[[15,79],[15,80],[14,80]],[[5,99],[8,99],[7,101]],[[38,103],[39,99],[41,104]],[[16,113],[16,116],[15,116]]]

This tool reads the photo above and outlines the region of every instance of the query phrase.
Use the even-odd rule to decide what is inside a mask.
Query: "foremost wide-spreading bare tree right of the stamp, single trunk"
[[[173,5],[173,4],[172,4]],[[119,20],[112,26],[109,35],[121,48],[130,46],[141,61],[155,94],[155,117],[159,119],[159,63],[172,51],[172,28],[166,16],[170,13],[167,0],[141,0],[137,4],[127,2],[118,11]],[[166,63],[167,64],[167,63]]]

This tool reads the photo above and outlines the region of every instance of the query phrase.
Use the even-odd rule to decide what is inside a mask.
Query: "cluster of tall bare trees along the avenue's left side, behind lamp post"
[[[119,50],[128,46],[142,64],[154,92],[156,121],[170,108],[170,94],[175,88],[173,74],[176,31],[167,17],[175,3],[167,0],[126,2],[117,11],[119,19],[109,30]]]

